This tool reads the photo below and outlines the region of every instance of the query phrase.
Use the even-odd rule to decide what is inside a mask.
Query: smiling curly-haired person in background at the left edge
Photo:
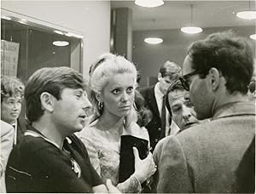
[[[26,121],[20,116],[24,85],[17,77],[1,77],[1,120],[15,128],[14,145],[26,130]]]

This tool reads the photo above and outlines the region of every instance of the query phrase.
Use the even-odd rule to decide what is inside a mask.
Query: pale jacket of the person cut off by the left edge
[[[0,143],[0,192],[6,192],[5,187],[5,168],[8,161],[9,153],[14,144],[14,128],[1,120],[1,143]]]

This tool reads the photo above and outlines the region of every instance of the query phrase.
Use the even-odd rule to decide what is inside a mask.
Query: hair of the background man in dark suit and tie
[[[171,79],[177,79],[177,77],[181,76],[182,69],[176,63],[167,60],[160,67],[160,74],[162,77],[171,77]]]

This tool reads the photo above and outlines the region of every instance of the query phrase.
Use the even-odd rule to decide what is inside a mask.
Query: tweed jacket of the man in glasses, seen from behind
[[[254,136],[253,103],[238,102],[221,107],[211,122],[159,142],[154,151],[158,165],[154,188],[157,192],[245,192],[241,191],[244,179],[255,182],[254,164],[242,164],[247,163],[243,158]],[[254,157],[255,151],[249,151],[246,160],[252,164]],[[241,175],[241,172],[244,173]],[[254,185],[250,188],[254,190]]]

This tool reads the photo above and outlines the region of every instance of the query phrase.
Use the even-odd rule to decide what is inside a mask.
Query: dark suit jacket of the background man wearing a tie
[[[152,151],[154,151],[155,145],[161,138],[164,137],[163,134],[165,134],[165,131],[163,131],[161,128],[160,113],[159,113],[155,95],[154,95],[154,87],[155,85],[139,89],[139,92],[143,95],[143,98],[145,100],[145,106],[150,111],[152,111],[152,119],[145,126],[148,129],[149,140],[150,140],[150,145],[152,147]]]

